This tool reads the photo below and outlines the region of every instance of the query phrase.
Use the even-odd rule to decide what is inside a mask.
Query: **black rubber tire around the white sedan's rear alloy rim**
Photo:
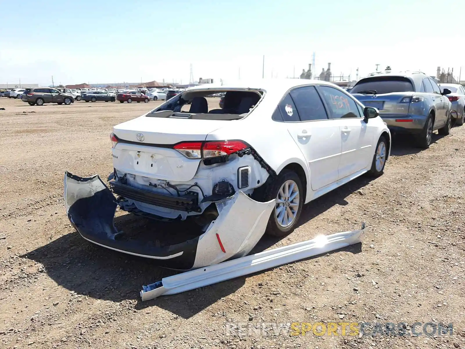
[[[283,237],[288,234],[290,234],[297,222],[299,221],[300,214],[302,212],[302,206],[304,203],[304,190],[302,186],[302,182],[300,181],[299,176],[291,171],[291,170],[283,170],[281,173],[274,179],[272,180],[270,178],[270,182],[265,182],[263,186],[259,187],[257,193],[253,193],[254,196],[256,197],[257,201],[270,201],[273,199],[279,199],[282,197],[280,195],[281,188],[284,187],[288,184],[290,187],[292,184],[294,184],[294,188],[292,188],[292,193],[295,194],[294,190],[297,187],[297,195],[294,197],[294,199],[289,202],[289,200],[284,201],[282,203],[277,203],[275,208],[273,209],[270,218],[268,219],[268,224],[266,225],[266,234],[272,235],[272,236],[278,236],[278,237]],[[282,190],[283,194],[285,193],[285,190],[283,188]],[[291,194],[291,195],[293,195]],[[289,196],[287,196],[289,197]],[[277,210],[282,207],[285,210],[285,213],[288,209],[291,209],[291,206],[289,204],[297,204],[297,211],[294,212],[294,217],[291,222],[291,224],[286,225],[284,224],[284,220],[282,221],[282,224],[279,223],[278,217],[280,216],[280,212],[277,212]],[[282,210],[282,209],[281,209]],[[282,217],[284,219],[284,217]]]

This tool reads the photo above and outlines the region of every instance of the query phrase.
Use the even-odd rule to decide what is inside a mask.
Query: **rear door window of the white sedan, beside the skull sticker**
[[[314,86],[295,88],[290,95],[299,111],[300,121],[328,119],[323,102]]]

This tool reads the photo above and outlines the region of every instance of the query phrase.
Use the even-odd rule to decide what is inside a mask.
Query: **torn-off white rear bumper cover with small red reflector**
[[[206,232],[185,242],[160,245],[118,239],[113,218],[118,201],[99,175],[81,178],[65,172],[69,221],[86,240],[116,251],[152,258],[160,267],[190,270],[247,255],[265,233],[275,200],[258,202],[242,191],[217,203],[219,216]]]

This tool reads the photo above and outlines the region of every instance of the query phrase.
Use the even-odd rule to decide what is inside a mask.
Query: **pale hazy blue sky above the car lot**
[[[0,0],[0,83],[188,83],[299,76],[331,62],[355,79],[384,69],[454,68],[465,30],[450,0]],[[451,11],[452,10],[452,11]],[[461,13],[458,13],[458,20]]]

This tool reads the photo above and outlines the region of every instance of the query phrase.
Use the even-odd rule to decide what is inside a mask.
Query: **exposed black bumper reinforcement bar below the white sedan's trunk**
[[[181,196],[161,195],[150,190],[131,187],[116,181],[110,182],[113,193],[121,195],[126,199],[145,202],[151,205],[172,208],[187,212],[200,212],[199,195],[195,192],[188,192]]]

